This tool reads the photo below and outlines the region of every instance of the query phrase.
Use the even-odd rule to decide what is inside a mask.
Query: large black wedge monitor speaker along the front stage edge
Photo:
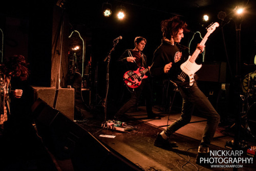
[[[41,99],[32,106],[37,132],[60,160],[70,158],[74,170],[142,170],[86,129]]]

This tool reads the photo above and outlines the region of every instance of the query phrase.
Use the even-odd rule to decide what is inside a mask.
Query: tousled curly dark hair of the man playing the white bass
[[[179,29],[183,29],[184,33],[189,32],[187,24],[178,15],[161,22],[161,31],[164,38],[170,39],[179,32]]]

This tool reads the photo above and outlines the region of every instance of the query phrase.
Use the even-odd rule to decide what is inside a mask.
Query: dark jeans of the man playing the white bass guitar
[[[207,118],[201,144],[210,144],[218,127],[220,115],[211,105],[203,92],[197,87],[196,83],[194,83],[190,88],[179,87],[179,91],[183,99],[181,116],[177,121],[167,126],[164,133],[168,137],[179,130],[182,126],[189,123],[195,106],[203,116]]]

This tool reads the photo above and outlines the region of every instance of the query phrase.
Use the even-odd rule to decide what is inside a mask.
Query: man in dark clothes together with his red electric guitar
[[[139,101],[141,93],[145,95],[147,117],[152,119],[160,119],[152,112],[152,90],[150,78],[145,73],[150,69],[146,67],[146,55],[142,53],[146,45],[144,37],[136,37],[134,40],[134,49],[126,49],[118,60],[120,68],[126,73],[124,74],[124,82],[130,88],[136,88],[131,93],[131,99],[127,101],[115,114],[114,118],[118,121],[125,121],[125,112],[130,110]],[[145,69],[146,68],[146,69]]]

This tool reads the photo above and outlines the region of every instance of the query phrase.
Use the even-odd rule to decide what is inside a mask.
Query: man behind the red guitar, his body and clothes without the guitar
[[[146,56],[142,53],[146,45],[146,39],[144,37],[136,37],[134,40],[134,49],[127,49],[119,58],[120,67],[125,71],[140,70],[141,67],[146,68]],[[150,68],[150,67],[148,67]],[[125,112],[131,109],[138,102],[141,93],[146,96],[146,111],[147,117],[152,119],[160,119],[152,112],[152,90],[150,86],[149,78],[141,80],[139,87],[135,88],[131,94],[131,99],[127,101],[114,116],[116,120],[124,121]]]

